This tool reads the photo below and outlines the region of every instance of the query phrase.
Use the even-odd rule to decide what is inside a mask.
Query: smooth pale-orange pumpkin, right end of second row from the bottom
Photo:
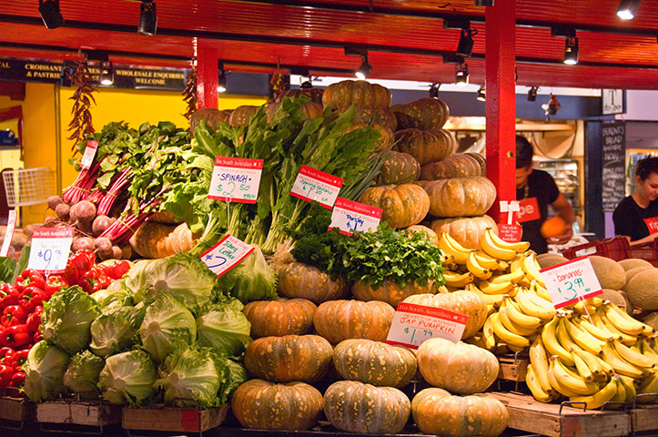
[[[453,393],[485,391],[496,381],[500,370],[496,356],[490,351],[439,337],[420,343],[416,359],[425,381]]]

